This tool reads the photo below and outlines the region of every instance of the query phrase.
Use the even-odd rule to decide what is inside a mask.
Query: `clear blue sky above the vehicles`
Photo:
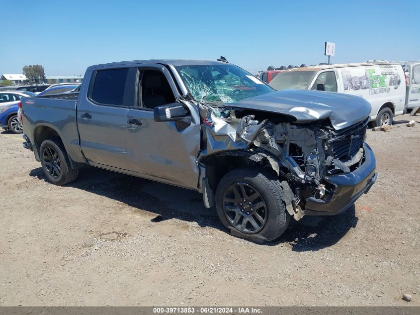
[[[0,74],[141,59],[268,66],[420,60],[419,0],[0,0]]]

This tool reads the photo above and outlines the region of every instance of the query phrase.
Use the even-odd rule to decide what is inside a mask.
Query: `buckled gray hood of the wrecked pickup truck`
[[[371,111],[370,103],[360,97],[311,90],[276,91],[226,105],[285,114],[298,123],[330,118],[336,130],[366,119]]]

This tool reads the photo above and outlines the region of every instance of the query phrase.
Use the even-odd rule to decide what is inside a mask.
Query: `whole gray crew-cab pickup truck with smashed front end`
[[[79,93],[22,99],[25,146],[54,184],[91,165],[192,189],[233,234],[260,242],[368,192],[368,102],[276,92],[218,60],[91,66]]]

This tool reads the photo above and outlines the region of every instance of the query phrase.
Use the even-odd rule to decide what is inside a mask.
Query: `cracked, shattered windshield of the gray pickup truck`
[[[273,92],[252,74],[231,64],[175,67],[188,91],[198,102],[235,103]]]

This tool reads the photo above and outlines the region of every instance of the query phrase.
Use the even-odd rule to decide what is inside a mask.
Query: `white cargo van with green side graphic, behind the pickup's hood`
[[[374,125],[392,124],[405,112],[406,78],[399,63],[366,62],[294,68],[279,73],[269,85],[359,96],[372,105]]]

